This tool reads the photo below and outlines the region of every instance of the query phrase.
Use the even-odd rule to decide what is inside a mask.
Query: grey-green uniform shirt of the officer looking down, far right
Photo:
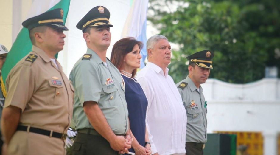
[[[182,82],[184,83],[180,86]],[[207,141],[207,108],[202,87],[200,86],[198,91],[189,76],[176,86],[187,112],[186,142],[205,143]]]

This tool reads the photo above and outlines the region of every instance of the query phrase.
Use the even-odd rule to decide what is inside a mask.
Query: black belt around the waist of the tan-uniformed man
[[[18,126],[16,130],[21,130],[21,131],[27,131],[28,126]],[[55,131],[49,131],[49,130],[44,130],[44,129],[39,129],[39,128],[34,128],[34,127],[30,127],[29,128],[29,132],[33,132],[36,134],[42,134],[42,135],[46,135],[49,137],[55,137],[55,138],[60,138],[60,139],[66,139],[66,134],[61,134]]]

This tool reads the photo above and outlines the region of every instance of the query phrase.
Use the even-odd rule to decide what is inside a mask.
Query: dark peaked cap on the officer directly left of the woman
[[[113,27],[109,22],[110,12],[106,7],[97,6],[88,11],[88,13],[78,22],[76,27],[84,32],[87,27],[96,27],[108,25]]]

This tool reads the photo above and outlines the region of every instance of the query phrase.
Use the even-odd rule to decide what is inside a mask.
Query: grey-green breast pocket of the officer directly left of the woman
[[[103,91],[105,92],[105,103],[104,107],[108,106],[116,106],[116,97],[117,96],[117,88],[115,86],[115,83],[112,83],[111,85],[103,85],[102,86]]]

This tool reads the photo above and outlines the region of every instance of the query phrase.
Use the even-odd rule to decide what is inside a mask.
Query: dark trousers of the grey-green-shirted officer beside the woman
[[[74,155],[118,155],[110,143],[102,136],[79,133],[72,146]]]

